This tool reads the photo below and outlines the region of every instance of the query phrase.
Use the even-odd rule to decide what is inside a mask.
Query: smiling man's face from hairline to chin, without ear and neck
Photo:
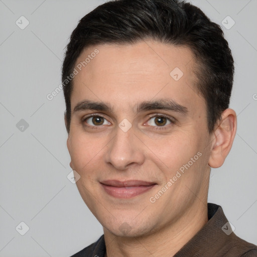
[[[97,49],[71,95],[67,146],[83,200],[115,235],[185,223],[206,208],[211,148],[191,50],[150,40]]]

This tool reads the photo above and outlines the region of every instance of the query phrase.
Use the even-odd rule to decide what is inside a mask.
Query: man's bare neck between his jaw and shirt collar
[[[207,201],[190,208],[175,223],[140,237],[119,237],[104,228],[107,257],[171,257],[208,222]]]

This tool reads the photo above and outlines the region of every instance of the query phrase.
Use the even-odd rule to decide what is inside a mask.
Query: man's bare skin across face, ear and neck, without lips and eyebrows
[[[95,48],[84,50],[77,64]],[[196,90],[196,62],[189,48],[147,40],[97,49],[96,57],[73,80],[67,147],[70,166],[81,176],[78,190],[103,226],[108,257],[173,256],[208,221],[210,167],[220,167],[230,151],[236,114],[226,109],[214,132],[208,132],[206,104]],[[178,81],[170,75],[175,67],[184,73]],[[160,99],[172,99],[187,113],[136,111],[143,101]],[[74,111],[84,100],[105,103],[112,111]],[[102,124],[87,118],[91,114],[102,116]],[[166,124],[160,126],[155,117],[162,114],[175,123],[161,118]],[[127,132],[118,126],[123,119],[132,124]],[[198,152],[201,157],[150,202]],[[108,179],[156,185],[141,195],[119,199],[103,190],[100,181]]]

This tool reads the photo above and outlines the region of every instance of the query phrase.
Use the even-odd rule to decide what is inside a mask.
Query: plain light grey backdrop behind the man
[[[102,3],[0,0],[0,256],[70,256],[102,234],[67,179],[71,169],[63,94],[46,98],[61,83],[72,30]],[[235,60],[230,107],[237,113],[238,129],[224,165],[211,172],[209,202],[223,207],[238,236],[256,244],[257,1],[192,3],[220,25],[227,16],[235,21],[230,29],[221,26]],[[21,16],[30,23],[24,30],[16,25]],[[231,20],[225,22],[231,25]],[[29,124],[23,131],[21,119]],[[21,221],[30,228],[25,235],[16,230]]]

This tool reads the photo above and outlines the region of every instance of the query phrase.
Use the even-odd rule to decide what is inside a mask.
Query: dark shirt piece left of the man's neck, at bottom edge
[[[104,254],[105,242],[104,236],[102,235],[96,242],[73,254],[71,257],[104,257]]]

